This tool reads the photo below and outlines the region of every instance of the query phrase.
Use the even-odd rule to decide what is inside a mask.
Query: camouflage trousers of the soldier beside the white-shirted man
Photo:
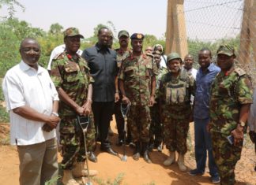
[[[93,116],[89,116],[90,124],[85,134],[87,151],[95,149],[95,126]],[[83,132],[76,129],[75,117],[64,117],[60,123],[60,144],[62,145],[63,169],[72,169],[76,162],[85,161],[85,139]]]

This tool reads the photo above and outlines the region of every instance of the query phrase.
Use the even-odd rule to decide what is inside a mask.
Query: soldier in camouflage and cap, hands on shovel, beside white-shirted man
[[[85,165],[85,141],[82,131],[77,131],[77,115],[88,116],[90,124],[86,134],[86,144],[91,154],[95,145],[95,128],[92,116],[92,83],[89,68],[84,59],[76,52],[80,47],[80,39],[77,28],[67,28],[64,31],[64,43],[66,50],[55,57],[51,66],[51,79],[55,83],[60,101],[59,127],[60,143],[62,144],[62,164],[64,184],[78,184],[73,176],[86,176]],[[96,175],[96,171],[90,171],[90,175]]]

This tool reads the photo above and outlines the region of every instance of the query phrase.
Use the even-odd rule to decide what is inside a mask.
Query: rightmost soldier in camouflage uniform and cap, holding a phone
[[[235,67],[234,61],[232,46],[220,46],[217,64],[221,71],[213,81],[209,108],[213,157],[220,184],[235,184],[235,165],[241,157],[243,131],[252,103],[250,76]],[[228,135],[232,135],[233,144],[228,142]]]

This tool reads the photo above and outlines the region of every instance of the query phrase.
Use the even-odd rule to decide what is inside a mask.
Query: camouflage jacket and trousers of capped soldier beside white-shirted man
[[[77,55],[77,61],[63,52],[55,57],[51,68],[51,78],[56,88],[61,87],[77,105],[84,105],[88,93],[89,83],[93,83],[89,75],[89,68],[84,59]],[[82,131],[76,130],[77,113],[66,105],[59,103],[60,123],[60,143],[63,146],[62,168],[71,169],[75,161],[85,161],[85,142]],[[95,127],[92,113],[89,115],[90,124],[86,134],[86,144],[88,151],[92,151],[95,146]]]

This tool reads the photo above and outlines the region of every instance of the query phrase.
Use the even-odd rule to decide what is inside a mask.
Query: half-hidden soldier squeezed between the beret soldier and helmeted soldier
[[[159,152],[162,151],[161,142],[163,141],[163,129],[160,123],[160,113],[158,109],[159,102],[159,86],[162,76],[168,72],[167,68],[160,66],[161,53],[158,50],[154,50],[153,53],[156,66],[158,69],[158,75],[156,76],[156,102],[150,107],[151,123],[149,128],[149,150],[156,148]]]

